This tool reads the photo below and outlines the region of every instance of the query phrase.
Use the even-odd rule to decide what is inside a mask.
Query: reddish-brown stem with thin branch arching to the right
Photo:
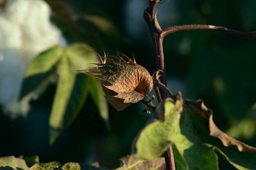
[[[160,3],[159,1],[160,0],[149,0],[149,7],[144,11],[144,19],[148,24],[148,28],[151,34],[153,45],[154,45],[156,67],[157,69],[163,72],[162,76],[159,77],[159,82],[161,83],[160,86],[164,85],[167,88],[166,72],[164,67],[164,52],[163,52],[163,45],[162,45],[164,36],[177,31],[204,29],[204,30],[223,31],[223,32],[239,35],[245,38],[256,37],[256,31],[245,33],[245,32],[237,31],[234,29],[229,29],[223,26],[213,26],[213,25],[172,26],[162,30],[156,18],[156,13],[157,13],[156,7],[157,7],[157,4]],[[159,88],[159,86],[157,87],[156,84],[155,84],[155,91],[156,91],[158,102],[162,101],[162,99],[167,97],[167,94],[169,95],[171,94],[171,91],[163,90],[163,88]],[[166,170],[175,170],[172,146],[170,146],[165,153],[165,161],[166,161]]]

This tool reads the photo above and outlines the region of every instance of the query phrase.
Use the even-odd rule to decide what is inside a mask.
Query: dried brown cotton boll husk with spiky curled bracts
[[[146,68],[136,64],[135,59],[131,60],[126,55],[119,53],[117,56],[107,55],[101,57],[101,64],[97,67],[88,68],[88,74],[95,75],[93,78],[100,79],[106,99],[117,110],[121,111],[137,103],[150,93],[153,88],[153,79]],[[124,60],[126,57],[128,61]],[[92,71],[92,72],[89,72]]]

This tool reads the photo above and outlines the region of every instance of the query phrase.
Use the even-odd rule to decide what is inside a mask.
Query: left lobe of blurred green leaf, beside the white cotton
[[[37,99],[49,84],[56,82],[57,77],[54,68],[62,55],[63,49],[60,46],[54,46],[40,53],[29,64],[20,93],[24,110],[27,110],[31,99]]]

